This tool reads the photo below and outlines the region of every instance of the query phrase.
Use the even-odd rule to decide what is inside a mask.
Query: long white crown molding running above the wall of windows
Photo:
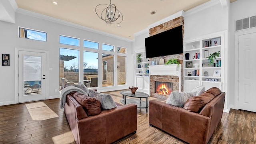
[[[121,37],[121,36],[116,36],[114,34],[103,32],[103,31],[100,31],[100,30],[96,30],[96,29],[93,29],[93,28],[86,27],[86,26],[81,26],[79,24],[74,24],[72,22],[67,22],[67,21],[64,21],[64,20],[60,20],[58,18],[53,18],[53,17],[46,16],[46,15],[43,15],[43,14],[38,14],[36,12],[31,12],[31,11],[28,11],[28,10],[24,10],[22,8],[17,8],[16,12],[20,13],[20,14],[32,16],[32,17],[35,17],[35,18],[40,18],[40,19],[43,19],[43,20],[48,20],[50,22],[55,22],[55,23],[58,23],[58,24],[64,24],[66,26],[71,26],[71,27],[74,27],[74,28],[79,28],[79,29],[86,30],[86,31],[89,31],[89,32],[94,32],[94,33],[97,33],[97,34],[102,34],[104,36],[109,36],[109,37],[112,37],[112,38],[117,38],[119,40],[124,40],[124,41],[127,41],[127,42],[134,42],[134,39],[130,40],[128,38],[124,38],[124,37]]]

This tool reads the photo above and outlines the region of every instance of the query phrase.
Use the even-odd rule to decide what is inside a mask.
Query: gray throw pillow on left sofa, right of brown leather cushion
[[[89,90],[89,96],[100,101],[102,110],[109,110],[117,107],[116,102],[114,102],[113,98],[109,94],[102,94],[95,90]]]

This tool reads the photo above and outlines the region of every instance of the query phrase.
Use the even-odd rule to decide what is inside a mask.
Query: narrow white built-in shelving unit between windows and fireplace
[[[140,61],[137,60],[137,56],[140,56]],[[146,58],[145,50],[137,50],[135,52],[135,86],[138,86],[138,89],[141,92],[149,93],[149,74],[148,74],[148,58]]]

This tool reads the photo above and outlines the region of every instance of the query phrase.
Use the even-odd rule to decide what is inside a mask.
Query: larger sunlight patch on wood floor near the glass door
[[[58,117],[58,115],[44,104],[44,102],[26,104],[26,107],[32,120],[47,120]]]

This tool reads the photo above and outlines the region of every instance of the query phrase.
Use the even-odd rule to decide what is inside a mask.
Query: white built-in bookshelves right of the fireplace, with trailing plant
[[[190,91],[198,85],[203,85],[206,90],[214,86],[222,90],[224,37],[225,33],[219,32],[184,42],[184,91]],[[209,64],[208,56],[218,51],[220,55],[214,59],[214,65]],[[186,53],[189,54],[188,60]]]

